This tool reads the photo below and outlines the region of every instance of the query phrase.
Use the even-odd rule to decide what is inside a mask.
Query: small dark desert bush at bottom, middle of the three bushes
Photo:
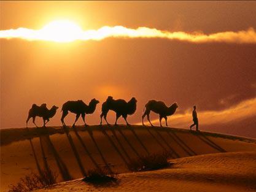
[[[91,169],[88,174],[83,178],[84,182],[103,185],[105,183],[117,182],[117,174],[109,173],[107,169]]]

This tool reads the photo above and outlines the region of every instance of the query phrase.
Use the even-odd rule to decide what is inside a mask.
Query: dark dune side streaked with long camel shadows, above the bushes
[[[16,132],[17,131],[17,132]],[[255,139],[187,129],[90,126],[76,129],[1,130],[1,191],[31,171],[50,167],[57,182],[78,179],[91,169],[129,172],[131,159],[152,153],[172,158],[225,152],[256,152]]]

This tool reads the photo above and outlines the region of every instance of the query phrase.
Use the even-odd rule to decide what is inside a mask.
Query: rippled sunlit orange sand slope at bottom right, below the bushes
[[[39,191],[255,191],[256,152],[216,153],[172,160],[168,169],[118,175],[112,186],[81,179]]]

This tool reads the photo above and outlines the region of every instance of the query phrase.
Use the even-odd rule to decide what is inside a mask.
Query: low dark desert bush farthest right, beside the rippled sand
[[[154,153],[151,155],[141,156],[141,158],[132,159],[130,163],[128,163],[128,169],[130,171],[150,171],[162,169],[164,167],[169,166],[169,158],[169,153]]]

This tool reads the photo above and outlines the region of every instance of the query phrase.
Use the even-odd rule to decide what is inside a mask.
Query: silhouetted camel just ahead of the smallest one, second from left
[[[95,109],[98,103],[99,101],[96,99],[91,99],[88,106],[82,100],[65,102],[61,109],[61,111],[63,112],[61,116],[62,125],[66,126],[64,122],[64,118],[68,115],[68,112],[76,114],[76,120],[72,125],[73,128],[75,127],[76,121],[78,120],[80,115],[82,116],[83,123],[85,123],[85,114],[91,114],[95,112]],[[85,123],[85,126],[88,126],[88,125]]]

